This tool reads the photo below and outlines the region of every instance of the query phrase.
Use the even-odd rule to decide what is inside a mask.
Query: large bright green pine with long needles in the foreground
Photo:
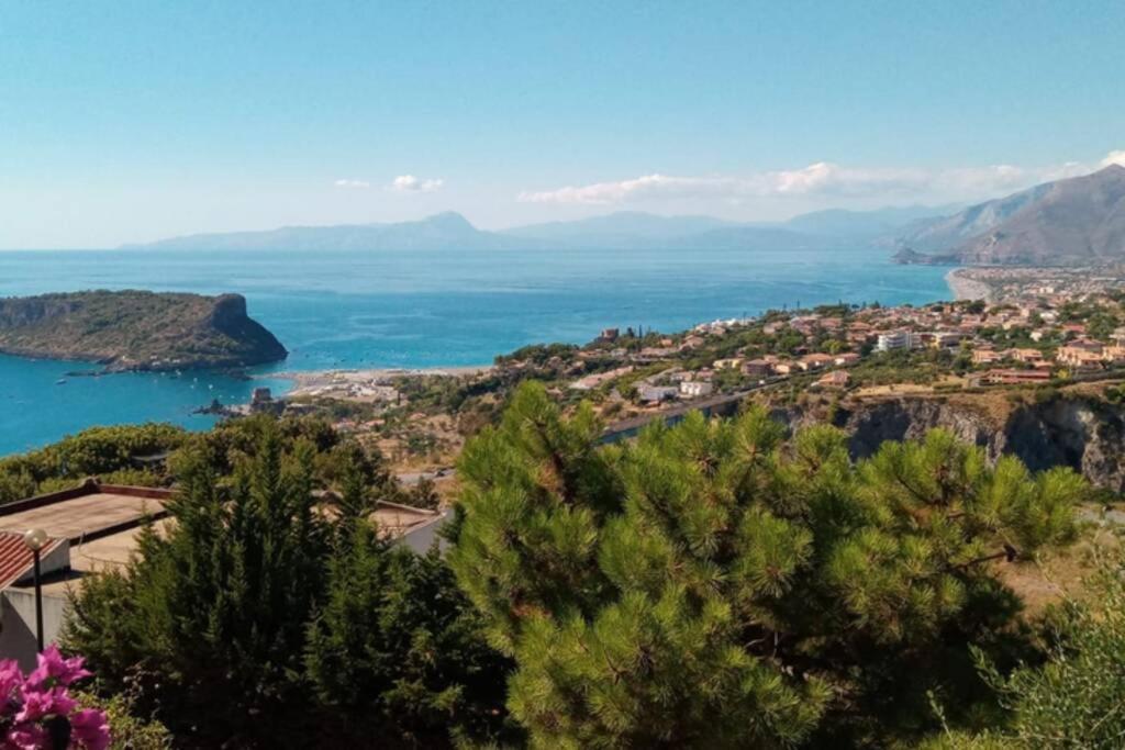
[[[690,416],[600,446],[521,388],[469,443],[450,562],[511,656],[538,747],[872,746],[990,692],[1018,599],[996,561],[1073,531],[1068,470],[990,468],[944,432],[853,466],[842,433],[790,443],[764,412]]]

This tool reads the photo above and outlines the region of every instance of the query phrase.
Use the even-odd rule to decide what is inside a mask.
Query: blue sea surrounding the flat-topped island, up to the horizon
[[[485,364],[524,344],[585,342],[601,328],[678,331],[783,305],[925,302],[945,269],[885,251],[0,252],[0,297],[79,289],[246,296],[290,350],[279,370]],[[0,355],[0,455],[93,424],[169,421],[256,385],[216,374],[69,378],[90,365]]]

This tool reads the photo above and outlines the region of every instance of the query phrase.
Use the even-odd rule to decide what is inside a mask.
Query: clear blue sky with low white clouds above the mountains
[[[0,247],[770,220],[1125,162],[1125,3],[4,2]]]

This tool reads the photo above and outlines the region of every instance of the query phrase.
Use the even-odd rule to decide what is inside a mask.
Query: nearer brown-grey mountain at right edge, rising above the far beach
[[[1125,260],[1125,168],[1046,182],[897,238],[904,263],[1090,265]]]

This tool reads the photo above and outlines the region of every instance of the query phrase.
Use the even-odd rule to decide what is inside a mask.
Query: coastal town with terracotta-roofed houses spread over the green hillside
[[[320,415],[402,472],[448,469],[506,394],[540,380],[594,406],[608,435],[746,398],[973,394],[1112,380],[1125,368],[1120,274],[961,269],[958,297],[922,306],[836,304],[718,319],[664,334],[606,328],[585,345],[531,345],[490,367],[294,373],[240,413]]]

